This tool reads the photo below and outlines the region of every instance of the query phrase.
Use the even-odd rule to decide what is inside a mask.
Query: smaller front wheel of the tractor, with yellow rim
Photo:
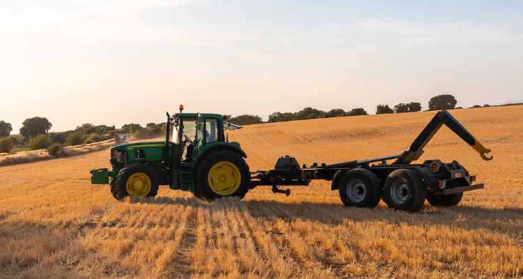
[[[131,164],[120,169],[114,181],[113,197],[123,201],[126,196],[140,199],[158,194],[158,176],[144,164]]]

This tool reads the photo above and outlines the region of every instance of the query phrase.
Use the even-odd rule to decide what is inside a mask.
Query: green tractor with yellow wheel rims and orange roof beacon
[[[115,199],[154,197],[160,185],[195,197],[244,197],[250,187],[245,152],[229,142],[225,130],[241,128],[220,114],[169,116],[165,142],[122,144],[111,149],[112,170],[93,169],[91,183],[107,184]]]

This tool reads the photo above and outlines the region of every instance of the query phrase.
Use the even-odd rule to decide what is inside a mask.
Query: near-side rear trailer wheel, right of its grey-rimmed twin
[[[384,199],[391,209],[418,212],[425,204],[425,184],[411,169],[396,169],[388,175]]]

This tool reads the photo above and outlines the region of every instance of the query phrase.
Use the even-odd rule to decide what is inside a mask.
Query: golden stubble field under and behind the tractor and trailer
[[[89,170],[107,151],[0,167],[0,278],[522,278],[523,106],[453,110],[486,162],[442,128],[422,159],[458,160],[485,189],[420,213],[342,206],[328,181],[202,202],[160,187],[116,202]],[[400,153],[433,112],[247,126],[251,170]]]

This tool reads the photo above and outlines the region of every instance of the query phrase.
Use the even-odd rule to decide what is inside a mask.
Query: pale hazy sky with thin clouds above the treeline
[[[0,0],[0,120],[523,102],[523,1]]]

